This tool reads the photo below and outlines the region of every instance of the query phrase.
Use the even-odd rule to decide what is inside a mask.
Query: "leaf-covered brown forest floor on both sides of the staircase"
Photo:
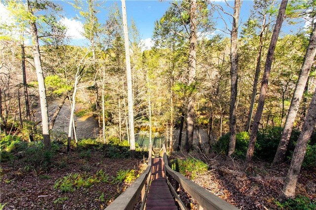
[[[88,143],[89,141],[86,145],[89,145]],[[102,147],[102,144],[100,147],[100,144],[97,144],[94,147],[90,145],[89,148],[77,147],[67,154],[65,146],[62,145],[55,151],[49,167],[42,161],[37,166],[35,164],[37,159],[29,159],[26,162],[27,157],[36,158],[36,156],[16,152],[14,159],[7,162],[1,160],[0,204],[5,204],[4,210],[105,209],[130,185],[126,181],[117,181],[118,172],[135,170],[135,175],[132,176],[136,178],[147,166],[143,164],[141,158],[118,158],[117,155],[122,155],[122,151],[125,150],[127,151],[125,147]],[[127,153],[125,157],[128,156]],[[145,153],[147,154],[146,151]],[[111,155],[113,157],[109,158]],[[143,157],[143,154],[139,157]],[[170,159],[173,158],[195,158],[206,163],[206,172],[196,175],[193,181],[239,209],[281,209],[277,197],[281,193],[288,164],[273,167],[270,163],[255,161],[251,168],[246,168],[243,161],[237,158],[227,159],[225,156],[215,154],[206,156],[201,152],[190,154],[174,152],[170,156]],[[100,170],[106,175],[107,180],[93,182],[102,180],[98,173]],[[79,177],[74,176],[76,174],[81,175],[86,181],[90,178],[91,183],[87,186],[73,185],[72,187],[75,182],[79,183]],[[190,172],[184,174],[191,176]],[[66,180],[64,191],[60,186],[54,187],[56,181],[60,179]],[[316,183],[316,169],[302,169],[296,194],[316,202],[315,191],[309,192],[313,190],[311,183]],[[195,201],[183,190],[180,197],[188,209],[196,209]],[[305,205],[304,201],[303,205]]]

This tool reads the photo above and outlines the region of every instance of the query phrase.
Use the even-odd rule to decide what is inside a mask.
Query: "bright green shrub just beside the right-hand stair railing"
[[[197,175],[207,172],[208,165],[201,160],[195,158],[173,159],[170,162],[171,168],[191,179],[195,179]]]

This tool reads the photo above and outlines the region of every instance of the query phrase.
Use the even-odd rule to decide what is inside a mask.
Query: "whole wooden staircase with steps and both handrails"
[[[141,195],[140,210],[187,210],[179,197],[179,185],[197,202],[197,210],[237,210],[236,207],[197,185],[168,166],[165,145],[150,145],[148,167],[106,210],[134,210]],[[161,155],[161,153],[163,155]],[[154,158],[153,158],[154,157]],[[162,157],[162,158],[161,158]],[[175,188],[169,178],[175,182]],[[172,193],[172,194],[171,194]]]

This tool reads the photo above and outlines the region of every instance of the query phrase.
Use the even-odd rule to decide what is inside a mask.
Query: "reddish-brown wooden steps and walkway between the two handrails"
[[[164,162],[162,158],[152,159],[151,185],[146,201],[146,210],[178,210],[171,195],[164,174]]]

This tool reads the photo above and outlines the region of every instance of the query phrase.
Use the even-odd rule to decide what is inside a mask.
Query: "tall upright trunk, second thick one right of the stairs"
[[[240,0],[235,0],[233,28],[231,32],[231,103],[229,108],[229,147],[228,155],[235,152],[236,146],[236,99],[238,83],[238,23],[240,12]]]

